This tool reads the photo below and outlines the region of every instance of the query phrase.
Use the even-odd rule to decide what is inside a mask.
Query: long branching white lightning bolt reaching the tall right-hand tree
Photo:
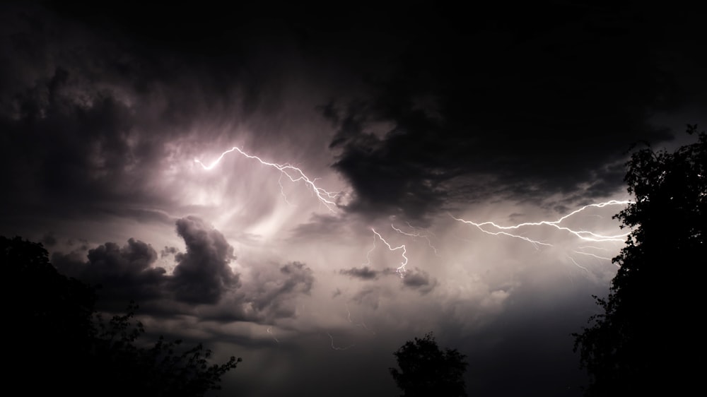
[[[455,220],[458,220],[463,223],[467,223],[469,225],[474,225],[476,226],[481,232],[484,232],[489,235],[506,235],[509,237],[515,237],[518,239],[523,239],[527,242],[530,242],[535,246],[537,249],[537,245],[544,245],[544,246],[551,246],[552,244],[548,244],[545,242],[539,242],[534,239],[530,239],[529,237],[521,236],[521,235],[514,235],[509,232],[504,232],[503,230],[517,230],[520,227],[524,226],[541,226],[541,225],[547,225],[551,227],[555,227],[558,230],[563,230],[565,232],[569,232],[572,235],[575,235],[576,237],[583,239],[585,241],[592,241],[592,242],[623,242],[625,237],[629,235],[629,233],[624,233],[621,235],[599,235],[595,232],[590,232],[588,230],[573,230],[570,227],[565,227],[565,226],[560,226],[559,224],[563,221],[566,220],[567,218],[571,217],[572,215],[575,215],[577,213],[580,213],[581,211],[585,211],[587,208],[590,207],[595,207],[595,208],[603,208],[605,206],[619,206],[619,205],[627,205],[633,203],[632,201],[618,201],[618,200],[611,200],[611,201],[606,201],[604,203],[595,203],[595,204],[588,204],[586,206],[583,206],[582,208],[579,208],[578,210],[572,211],[571,213],[568,213],[567,215],[564,215],[563,217],[559,218],[558,220],[542,220],[540,222],[526,222],[526,223],[519,223],[518,225],[513,225],[513,226],[501,226],[493,222],[483,222],[483,223],[475,223],[472,222],[471,220],[463,220],[460,218],[456,218],[454,215],[449,214],[450,217],[454,218]],[[486,230],[484,227],[495,227],[496,232],[492,232],[490,230]]]

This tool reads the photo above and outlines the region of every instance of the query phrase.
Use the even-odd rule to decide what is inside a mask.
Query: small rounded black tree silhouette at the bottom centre
[[[390,374],[403,397],[466,396],[465,355],[456,349],[440,350],[433,334],[407,341],[393,353],[400,370],[390,368]]]

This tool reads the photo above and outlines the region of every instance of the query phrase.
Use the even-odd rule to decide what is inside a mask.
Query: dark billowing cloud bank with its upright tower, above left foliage
[[[107,242],[89,249],[88,261],[74,251],[55,253],[52,262],[62,273],[100,285],[99,295],[109,304],[157,299],[216,304],[223,294],[238,288],[238,275],[228,266],[235,259],[233,247],[221,232],[199,218],[187,217],[177,220],[177,234],[185,240],[186,252],[174,247],[162,251],[163,255],[175,254],[177,266],[172,275],[153,266],[157,251],[136,239],[129,239],[124,247]]]

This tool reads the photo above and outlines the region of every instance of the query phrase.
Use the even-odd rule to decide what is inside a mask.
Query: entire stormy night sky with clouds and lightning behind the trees
[[[223,396],[395,396],[428,331],[470,396],[580,396],[624,207],[462,220],[630,200],[707,126],[689,8],[64,3],[0,8],[0,235],[243,357]]]

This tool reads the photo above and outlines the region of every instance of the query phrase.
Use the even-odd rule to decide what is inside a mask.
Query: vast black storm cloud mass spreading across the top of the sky
[[[35,213],[52,213],[51,197],[64,211],[110,203],[171,222],[116,208],[168,203],[151,183],[165,141],[274,109],[293,59],[347,77],[320,110],[349,211],[410,218],[491,196],[611,194],[631,143],[670,138],[648,117],[704,99],[699,18],[648,6],[361,6],[337,23],[297,6],[239,23],[178,7],[170,20],[157,6],[4,11],[0,167],[16,170],[16,194],[0,207]]]

